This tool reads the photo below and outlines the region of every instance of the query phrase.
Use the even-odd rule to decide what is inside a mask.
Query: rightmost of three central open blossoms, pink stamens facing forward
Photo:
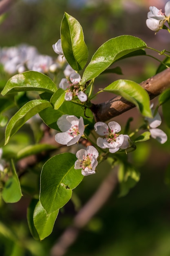
[[[104,138],[97,138],[97,146],[109,148],[110,153],[115,153],[119,150],[124,142],[124,135],[118,133],[121,130],[121,126],[117,122],[111,121],[108,125],[103,122],[97,122],[94,128],[99,135],[104,136]]]

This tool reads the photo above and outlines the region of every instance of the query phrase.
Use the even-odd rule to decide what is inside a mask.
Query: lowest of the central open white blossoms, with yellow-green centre
[[[85,149],[80,149],[76,153],[78,160],[75,162],[75,169],[82,169],[82,175],[87,176],[95,174],[95,168],[98,164],[97,157],[99,153],[93,146],[88,146]]]

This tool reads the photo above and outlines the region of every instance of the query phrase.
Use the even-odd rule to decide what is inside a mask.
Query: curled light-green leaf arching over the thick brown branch
[[[104,88],[104,91],[121,95],[137,106],[142,115],[152,117],[149,95],[138,83],[119,79]]]

